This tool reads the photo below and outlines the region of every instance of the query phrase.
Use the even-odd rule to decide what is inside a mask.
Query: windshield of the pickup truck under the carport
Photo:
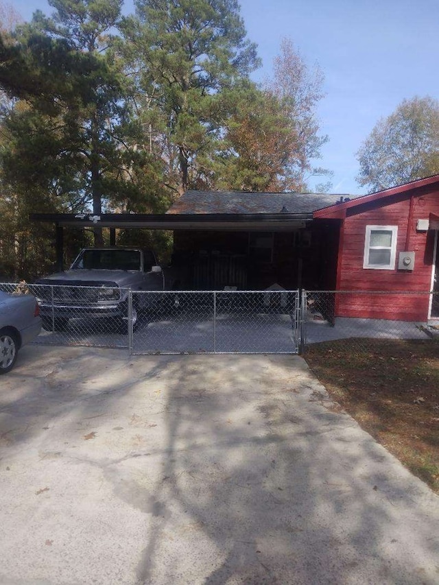
[[[73,270],[140,270],[139,250],[82,250]]]

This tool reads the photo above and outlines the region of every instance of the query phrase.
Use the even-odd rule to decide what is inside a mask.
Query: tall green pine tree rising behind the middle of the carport
[[[199,184],[215,152],[220,93],[259,64],[235,0],[137,0],[123,23],[143,123],[176,193]]]

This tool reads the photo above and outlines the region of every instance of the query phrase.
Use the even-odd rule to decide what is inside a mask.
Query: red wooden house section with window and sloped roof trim
[[[335,317],[439,321],[439,176],[340,202],[313,218],[338,230],[335,288],[353,291],[337,295]]]

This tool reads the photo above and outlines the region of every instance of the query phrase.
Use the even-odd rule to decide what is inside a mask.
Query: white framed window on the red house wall
[[[366,226],[363,268],[394,270],[398,226]]]

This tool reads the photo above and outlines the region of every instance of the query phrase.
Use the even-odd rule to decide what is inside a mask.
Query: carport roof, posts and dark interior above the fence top
[[[318,193],[188,191],[167,213],[34,213],[55,226],[56,270],[62,270],[64,230],[171,230],[173,262],[187,270],[185,289],[334,289],[338,222],[313,219],[317,209],[344,200]]]

